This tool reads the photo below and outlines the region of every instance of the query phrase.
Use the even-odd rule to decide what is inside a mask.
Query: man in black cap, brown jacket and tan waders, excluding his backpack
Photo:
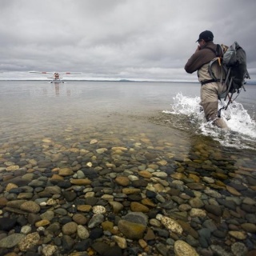
[[[211,60],[222,57],[221,46],[214,44],[214,34],[209,30],[199,34],[198,48],[186,62],[187,73],[194,73],[198,70],[198,80],[201,82],[201,105],[204,110],[206,121],[213,122],[214,126],[228,128],[222,118],[218,118],[218,95],[224,92],[225,88],[221,82],[214,82],[209,73],[209,63]],[[221,77],[221,68],[218,63],[214,63],[212,70],[216,78]]]

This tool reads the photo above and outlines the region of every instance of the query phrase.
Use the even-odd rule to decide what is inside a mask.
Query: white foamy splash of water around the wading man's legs
[[[171,104],[172,110],[165,110],[163,113],[178,115],[179,121],[181,121],[180,117],[182,116],[183,121],[186,120],[186,125],[190,123],[190,127],[183,126],[183,130],[190,129],[195,134],[210,136],[223,146],[256,149],[256,122],[250,118],[241,103],[233,102],[227,110],[222,110],[222,118],[230,130],[222,130],[210,122],[206,122],[199,103],[199,97],[191,98],[179,93],[175,95],[174,103]],[[222,104],[225,106],[226,102],[219,102],[219,108],[222,107]]]

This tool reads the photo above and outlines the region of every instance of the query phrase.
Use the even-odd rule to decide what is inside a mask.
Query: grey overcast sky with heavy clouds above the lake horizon
[[[256,79],[255,10],[255,0],[1,0],[0,73],[196,80],[183,67],[211,30],[216,43],[238,41]]]

